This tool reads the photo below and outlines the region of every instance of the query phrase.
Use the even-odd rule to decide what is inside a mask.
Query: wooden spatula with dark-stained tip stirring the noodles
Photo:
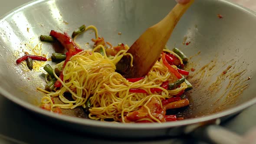
[[[127,51],[133,56],[133,66],[131,66],[131,57],[126,55],[117,63],[116,72],[125,78],[147,75],[160,57],[174,27],[192,3],[194,0],[187,4],[177,3],[163,20],[148,28]]]

